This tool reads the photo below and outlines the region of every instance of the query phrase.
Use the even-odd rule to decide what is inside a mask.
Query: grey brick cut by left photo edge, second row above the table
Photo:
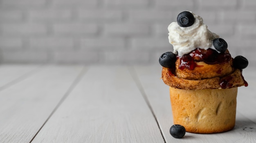
[[[0,37],[0,48],[22,48],[22,39],[13,37]]]

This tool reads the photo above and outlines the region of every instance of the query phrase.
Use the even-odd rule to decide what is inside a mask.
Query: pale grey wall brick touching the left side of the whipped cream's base
[[[162,48],[172,47],[166,38],[133,38],[132,40],[132,49],[135,50],[144,50],[152,51],[159,50]]]

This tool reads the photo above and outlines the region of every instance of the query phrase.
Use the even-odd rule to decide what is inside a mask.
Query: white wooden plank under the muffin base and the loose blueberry
[[[238,108],[236,116],[236,126],[234,130],[219,134],[192,134],[186,133],[184,138],[175,139],[171,137],[169,133],[170,127],[173,125],[173,117],[171,113],[171,104],[169,98],[168,86],[164,85],[161,78],[161,66],[148,66],[148,67],[135,67],[135,71],[139,77],[141,88],[145,91],[145,94],[153,108],[153,112],[157,117],[159,126],[164,134],[166,143],[173,142],[190,142],[190,143],[255,143],[255,129],[256,124],[241,113],[244,110],[250,110],[250,108]],[[250,100],[250,99],[247,99]],[[255,100],[254,100],[255,101]],[[254,109],[255,109],[255,105]],[[252,110],[252,109],[251,109]],[[246,114],[249,116],[248,114]],[[255,119],[255,118],[254,118]]]

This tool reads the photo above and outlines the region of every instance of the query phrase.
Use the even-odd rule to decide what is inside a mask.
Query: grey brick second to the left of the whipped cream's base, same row
[[[98,49],[98,50],[110,50],[110,49],[124,49],[124,38],[86,38],[81,39],[82,49]]]

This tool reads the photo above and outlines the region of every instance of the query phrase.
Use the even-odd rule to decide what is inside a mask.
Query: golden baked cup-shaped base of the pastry
[[[237,87],[231,89],[175,89],[170,87],[174,124],[191,133],[231,130],[236,120]]]

